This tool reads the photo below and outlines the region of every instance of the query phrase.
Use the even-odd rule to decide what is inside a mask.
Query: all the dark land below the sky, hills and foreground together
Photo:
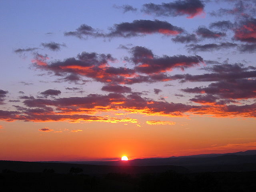
[[[256,192],[256,150],[116,162],[0,161],[0,192],[23,191]]]

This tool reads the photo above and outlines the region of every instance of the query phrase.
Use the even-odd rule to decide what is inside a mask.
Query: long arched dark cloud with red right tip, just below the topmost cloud
[[[141,36],[152,33],[160,33],[164,35],[177,35],[183,32],[182,28],[173,26],[166,21],[160,20],[134,20],[133,22],[123,22],[115,24],[111,28],[109,37],[124,37]]]

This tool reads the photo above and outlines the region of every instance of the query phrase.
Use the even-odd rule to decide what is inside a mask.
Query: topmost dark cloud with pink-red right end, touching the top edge
[[[204,14],[204,4],[200,0],[176,0],[162,4],[144,4],[142,12],[155,14],[156,16],[182,16],[187,18]]]

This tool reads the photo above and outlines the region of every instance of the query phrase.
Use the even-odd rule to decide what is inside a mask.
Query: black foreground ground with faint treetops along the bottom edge
[[[254,192],[256,172],[0,174],[1,192]]]

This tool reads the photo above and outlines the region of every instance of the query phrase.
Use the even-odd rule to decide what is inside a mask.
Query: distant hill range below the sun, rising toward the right
[[[59,162],[60,163],[60,162]],[[226,154],[200,154],[192,156],[179,156],[169,158],[145,158],[125,161],[76,161],[65,162],[74,164],[93,164],[111,166],[209,166],[209,165],[234,165],[256,163],[256,150]]]

